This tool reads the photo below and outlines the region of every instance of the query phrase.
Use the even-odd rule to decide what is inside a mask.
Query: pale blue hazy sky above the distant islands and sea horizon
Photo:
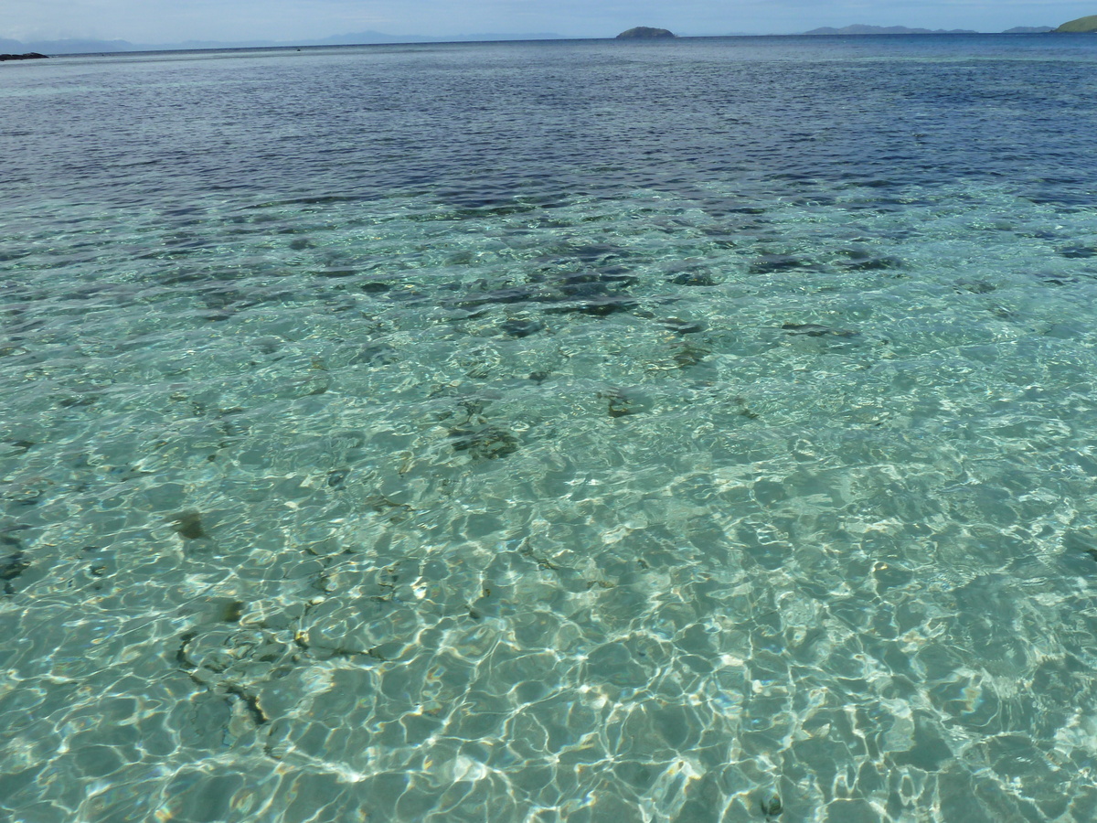
[[[294,41],[352,32],[612,37],[791,34],[852,23],[1000,32],[1097,14],[1097,0],[3,0],[0,38]]]

